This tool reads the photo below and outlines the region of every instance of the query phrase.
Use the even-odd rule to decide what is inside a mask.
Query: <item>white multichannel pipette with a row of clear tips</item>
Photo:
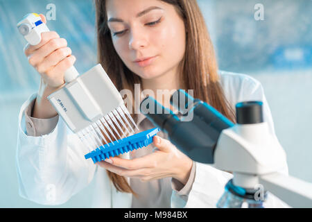
[[[49,31],[36,13],[25,15],[17,28],[31,45],[40,44],[41,33]],[[100,64],[80,76],[72,66],[65,72],[64,80],[67,84],[48,99],[89,151],[105,144],[114,145],[122,137],[135,133],[130,124],[137,128],[135,121]]]

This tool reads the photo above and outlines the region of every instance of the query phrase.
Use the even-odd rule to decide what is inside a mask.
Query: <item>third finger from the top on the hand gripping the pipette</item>
[[[39,73],[44,73],[47,69],[58,65],[58,63],[64,58],[67,58],[71,55],[71,49],[69,47],[64,47],[58,50],[53,51],[51,55],[44,58],[44,61],[37,66],[37,71]]]

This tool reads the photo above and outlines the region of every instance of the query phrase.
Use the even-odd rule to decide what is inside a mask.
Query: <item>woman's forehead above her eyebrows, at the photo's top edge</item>
[[[156,6],[166,10],[168,4],[160,0],[106,0],[107,18],[136,17],[146,8]]]

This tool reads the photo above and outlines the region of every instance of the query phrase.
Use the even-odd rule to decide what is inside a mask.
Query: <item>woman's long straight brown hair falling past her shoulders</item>
[[[218,82],[218,65],[209,33],[196,0],[161,0],[175,7],[184,20],[186,49],[180,63],[182,83],[194,89],[194,97],[212,105],[225,117],[235,121],[234,110],[229,105]],[[107,26],[105,1],[95,0],[98,62],[101,63],[119,91],[130,89],[134,94],[135,83],[141,79],[126,67],[116,53],[110,29]],[[135,115],[135,114],[134,114]],[[134,116],[134,119],[137,119]],[[107,171],[118,191],[135,194],[124,177]]]

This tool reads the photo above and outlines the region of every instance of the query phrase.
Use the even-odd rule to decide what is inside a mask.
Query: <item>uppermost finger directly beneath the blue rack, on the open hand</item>
[[[153,154],[138,157],[132,160],[122,159],[121,157],[110,157],[112,164],[124,169],[141,169],[156,167],[157,163],[154,160]]]

